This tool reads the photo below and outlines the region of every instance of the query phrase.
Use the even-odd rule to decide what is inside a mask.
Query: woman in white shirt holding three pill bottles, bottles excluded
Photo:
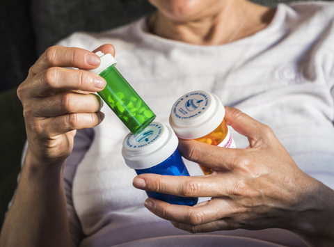
[[[147,21],[50,47],[19,86],[29,147],[1,246],[333,246],[333,4],[150,3]],[[226,107],[239,149],[180,140],[182,155],[212,175],[188,163],[193,177],[133,181],[211,200],[168,205],[132,187],[120,155],[127,129],[90,94],[104,79],[85,71],[100,64],[90,50],[115,54],[108,43],[157,120],[167,124],[191,90],[252,117]]]

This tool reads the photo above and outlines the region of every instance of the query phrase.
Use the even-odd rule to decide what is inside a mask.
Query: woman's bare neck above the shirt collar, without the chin
[[[245,0],[229,1],[208,11],[199,17],[180,20],[167,17],[158,10],[148,20],[149,30],[170,40],[195,45],[223,45],[264,29],[276,12]]]

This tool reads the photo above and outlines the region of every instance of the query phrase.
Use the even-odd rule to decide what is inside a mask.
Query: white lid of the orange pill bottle
[[[211,93],[198,90],[183,95],[170,112],[170,126],[182,139],[196,139],[216,129],[225,117],[220,99]]]

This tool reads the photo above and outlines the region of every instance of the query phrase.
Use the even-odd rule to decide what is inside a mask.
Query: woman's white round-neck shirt
[[[333,20],[333,3],[280,4],[267,28],[226,45],[160,38],[148,33],[145,19],[104,33],[74,33],[59,45],[93,50],[113,44],[118,70],[166,125],[178,97],[214,93],[269,125],[301,170],[334,189]],[[194,235],[154,216],[120,153],[128,130],[107,106],[102,111],[102,124],[78,132],[65,166],[78,246],[305,246],[285,230]],[[231,131],[237,147],[246,148],[247,139]],[[197,164],[186,166],[202,175]]]

